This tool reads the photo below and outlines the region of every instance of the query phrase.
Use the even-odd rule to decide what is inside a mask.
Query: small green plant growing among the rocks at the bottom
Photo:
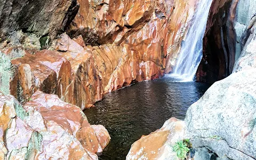
[[[178,158],[183,160],[186,158],[189,148],[186,142],[183,142],[183,140],[181,140],[175,143],[175,145],[173,146],[173,151],[177,153]]]

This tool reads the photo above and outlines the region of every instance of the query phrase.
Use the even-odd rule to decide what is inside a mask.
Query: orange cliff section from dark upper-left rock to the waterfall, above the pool
[[[106,93],[172,71],[196,1],[78,3],[68,34],[90,45],[113,43],[93,49]]]

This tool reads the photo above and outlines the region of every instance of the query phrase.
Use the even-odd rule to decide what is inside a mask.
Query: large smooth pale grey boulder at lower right
[[[212,139],[200,147],[212,146],[212,151],[222,148],[221,155],[231,159],[256,158],[255,79],[256,69],[250,69],[214,83],[187,111],[188,137]],[[218,144],[215,139],[226,141],[226,145]],[[231,157],[234,154],[241,158]]]

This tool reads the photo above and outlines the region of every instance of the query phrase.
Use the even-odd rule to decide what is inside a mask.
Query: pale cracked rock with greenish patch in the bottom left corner
[[[0,92],[0,158],[25,159],[33,130],[25,124],[26,114],[11,95]]]

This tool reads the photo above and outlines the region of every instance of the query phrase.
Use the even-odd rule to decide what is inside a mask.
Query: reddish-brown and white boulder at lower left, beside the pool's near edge
[[[24,108],[29,113],[25,122],[42,135],[43,152],[39,153],[39,157],[64,156],[80,159],[90,156],[94,159],[96,156],[94,153],[104,149],[104,147],[101,148],[101,141],[98,141],[93,127],[87,122],[82,110],[61,101],[57,95],[36,92]],[[35,122],[34,119],[41,120]],[[104,128],[103,132],[105,130]],[[109,134],[105,137],[108,137],[109,142]],[[51,146],[55,149],[49,152]],[[57,150],[62,151],[59,153]],[[76,150],[78,150],[77,154],[74,154]]]

